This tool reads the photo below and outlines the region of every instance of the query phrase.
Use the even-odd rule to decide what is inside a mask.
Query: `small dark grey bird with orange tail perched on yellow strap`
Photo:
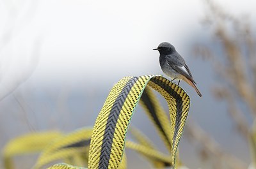
[[[171,43],[160,43],[158,47],[154,48],[153,50],[158,50],[160,53],[159,63],[161,69],[163,70],[164,74],[172,78],[171,82],[173,82],[173,80],[179,80],[180,83],[180,80],[184,80],[195,89],[200,97],[202,97],[201,92],[196,87],[196,82],[192,77],[188,65]]]

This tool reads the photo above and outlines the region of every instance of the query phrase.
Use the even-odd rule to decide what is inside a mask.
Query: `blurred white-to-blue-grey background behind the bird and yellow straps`
[[[255,6],[253,0],[1,0],[0,149],[33,131],[93,126],[120,78],[163,75],[152,49],[168,41],[203,94],[180,83],[191,98],[182,163],[248,168],[256,115]],[[131,125],[167,152],[140,107]],[[150,167],[127,153],[128,168]],[[31,168],[35,160],[16,162]]]

